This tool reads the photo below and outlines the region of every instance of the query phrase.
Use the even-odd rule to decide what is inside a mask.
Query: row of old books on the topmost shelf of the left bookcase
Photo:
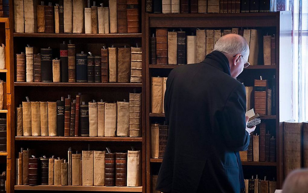
[[[65,0],[37,5],[14,0],[15,32],[19,33],[139,33],[138,0],[109,0],[109,6],[86,7],[86,1]]]

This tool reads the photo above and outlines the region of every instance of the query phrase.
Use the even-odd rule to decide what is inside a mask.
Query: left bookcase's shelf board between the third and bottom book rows
[[[16,136],[16,141],[142,141],[142,137]]]

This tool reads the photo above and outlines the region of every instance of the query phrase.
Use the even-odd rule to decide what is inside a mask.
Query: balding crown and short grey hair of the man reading
[[[249,54],[249,46],[244,37],[236,34],[228,34],[219,38],[214,46],[214,50],[224,53],[229,57],[233,57],[236,54],[242,54],[247,56]]]

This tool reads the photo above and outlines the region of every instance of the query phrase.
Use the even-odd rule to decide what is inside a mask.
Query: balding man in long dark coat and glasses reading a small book
[[[173,69],[164,99],[168,142],[156,189],[168,192],[245,190],[239,151],[247,150],[245,86],[235,78],[249,65],[239,35],[221,37],[198,64]]]

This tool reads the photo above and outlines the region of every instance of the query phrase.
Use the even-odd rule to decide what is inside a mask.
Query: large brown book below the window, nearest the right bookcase
[[[285,177],[302,166],[302,133],[303,123],[284,122],[284,170]]]

